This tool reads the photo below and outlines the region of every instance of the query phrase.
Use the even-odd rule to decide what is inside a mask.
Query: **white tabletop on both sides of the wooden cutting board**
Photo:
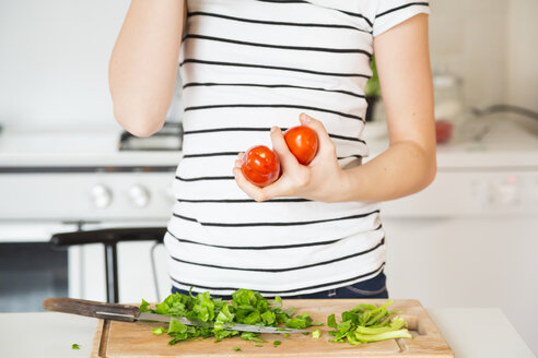
[[[428,309],[457,358],[535,355],[498,308]],[[89,357],[96,320],[63,313],[0,313],[0,357]],[[80,345],[73,350],[71,345]]]

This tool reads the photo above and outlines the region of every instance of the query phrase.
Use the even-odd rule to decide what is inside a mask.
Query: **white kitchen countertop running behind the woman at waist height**
[[[491,116],[468,122],[460,133],[459,140],[437,146],[440,170],[538,167],[537,121]],[[119,136],[117,129],[78,132],[4,129],[0,133],[0,166],[177,166],[182,157],[176,151],[120,152]],[[371,158],[385,151],[388,147],[386,123],[369,122],[364,139]]]

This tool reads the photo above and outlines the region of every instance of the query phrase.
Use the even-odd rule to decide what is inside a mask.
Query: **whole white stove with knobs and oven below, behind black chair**
[[[174,203],[172,182],[180,152],[120,152],[119,136],[117,130],[84,133],[4,130],[0,134],[0,250],[2,243],[4,249],[11,243],[9,248],[20,252],[21,275],[33,261],[28,256],[30,248],[48,241],[52,234],[166,226]],[[22,242],[27,243],[26,249],[22,249]],[[21,248],[14,243],[21,243]],[[142,297],[157,299],[151,255],[159,263],[156,276],[163,290],[161,297],[169,291],[162,259],[164,250],[152,244],[126,242],[118,246],[122,301],[138,301]],[[44,251],[37,255],[45,254]],[[106,299],[101,244],[69,249],[67,262],[69,296]],[[10,270],[11,275],[17,272],[14,266]],[[49,276],[54,276],[49,281],[58,281],[61,274]],[[30,278],[20,283],[26,285],[26,294],[36,285]],[[0,291],[0,296],[2,293],[5,296],[0,300],[5,306],[11,290]],[[17,307],[20,299],[10,297]]]

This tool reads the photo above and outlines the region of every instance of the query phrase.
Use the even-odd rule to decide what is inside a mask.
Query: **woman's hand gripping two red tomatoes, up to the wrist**
[[[335,144],[330,140],[324,124],[312,117],[301,114],[301,123],[312,128],[319,140],[316,157],[307,166],[299,164],[285,144],[282,131],[271,128],[271,142],[277,152],[282,176],[272,184],[259,188],[245,179],[241,171],[244,153],[239,153],[233,169],[237,186],[257,202],[278,196],[299,196],[315,201],[336,202],[344,182],[344,172],[338,165]]]

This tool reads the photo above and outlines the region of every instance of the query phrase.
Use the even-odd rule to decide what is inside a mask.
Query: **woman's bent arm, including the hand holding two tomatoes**
[[[301,166],[280,130],[272,130],[271,140],[283,175],[260,189],[235,168],[236,181],[248,195],[257,201],[296,195],[325,202],[377,202],[412,194],[433,181],[436,163],[428,16],[420,14],[395,26],[377,36],[374,46],[389,148],[363,166],[342,170],[321,122],[302,115],[303,124],[318,134],[318,154],[309,166]]]

